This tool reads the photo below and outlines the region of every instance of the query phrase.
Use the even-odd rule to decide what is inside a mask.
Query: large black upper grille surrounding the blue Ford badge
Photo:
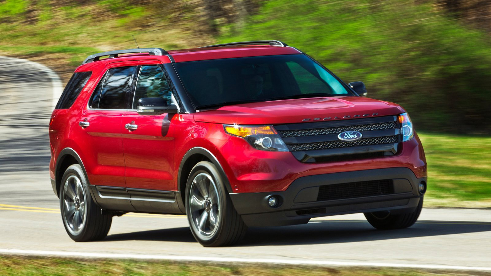
[[[304,163],[391,156],[397,153],[402,139],[396,115],[276,125],[274,128],[295,158]],[[338,136],[346,131],[361,133],[361,139],[341,140]]]

